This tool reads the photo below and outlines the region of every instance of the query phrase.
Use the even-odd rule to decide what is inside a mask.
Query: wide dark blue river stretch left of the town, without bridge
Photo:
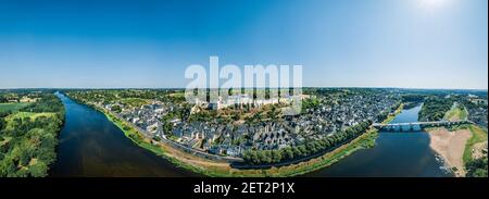
[[[66,113],[49,176],[197,176],[135,145],[104,114],[57,96]]]

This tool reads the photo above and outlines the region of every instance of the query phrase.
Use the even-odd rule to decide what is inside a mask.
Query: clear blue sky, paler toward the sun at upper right
[[[0,0],[0,88],[185,87],[189,64],[304,86],[488,87],[487,0]]]

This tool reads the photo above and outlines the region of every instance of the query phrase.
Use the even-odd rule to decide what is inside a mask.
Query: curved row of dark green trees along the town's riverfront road
[[[252,165],[276,164],[287,161],[304,159],[317,153],[329,151],[338,146],[362,135],[372,125],[365,121],[346,130],[319,140],[309,140],[305,144],[286,147],[279,150],[248,150],[243,153],[244,162]]]

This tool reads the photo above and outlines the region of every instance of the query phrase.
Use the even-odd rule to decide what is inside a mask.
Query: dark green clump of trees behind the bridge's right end
[[[452,104],[453,100],[450,98],[428,97],[418,113],[419,121],[441,121]]]

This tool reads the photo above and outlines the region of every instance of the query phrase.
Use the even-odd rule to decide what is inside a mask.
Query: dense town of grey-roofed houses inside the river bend
[[[242,158],[247,150],[299,146],[333,136],[361,122],[378,122],[396,110],[401,100],[400,95],[392,91],[329,90],[303,95],[302,113],[288,116],[277,111],[284,107],[279,100],[248,105],[251,100],[247,98],[247,108],[225,102],[224,108],[213,109],[178,100],[179,91],[165,95],[166,98],[153,96],[153,99],[121,98],[108,95],[111,91],[72,91],[68,95],[74,99],[87,98],[87,92],[95,95],[90,97],[91,103],[134,124],[155,141],[170,139],[195,150],[235,158]]]

